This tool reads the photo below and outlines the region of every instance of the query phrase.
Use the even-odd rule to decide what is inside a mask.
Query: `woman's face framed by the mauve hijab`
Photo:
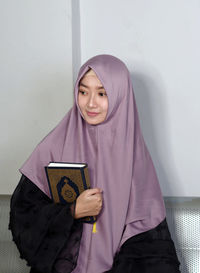
[[[87,123],[96,125],[105,120],[108,112],[108,97],[92,69],[80,80],[78,105]]]

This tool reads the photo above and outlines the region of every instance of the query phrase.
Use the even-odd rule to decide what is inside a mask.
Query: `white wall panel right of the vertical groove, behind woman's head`
[[[199,14],[198,0],[80,0],[81,63],[127,64],[165,196],[200,196]]]

